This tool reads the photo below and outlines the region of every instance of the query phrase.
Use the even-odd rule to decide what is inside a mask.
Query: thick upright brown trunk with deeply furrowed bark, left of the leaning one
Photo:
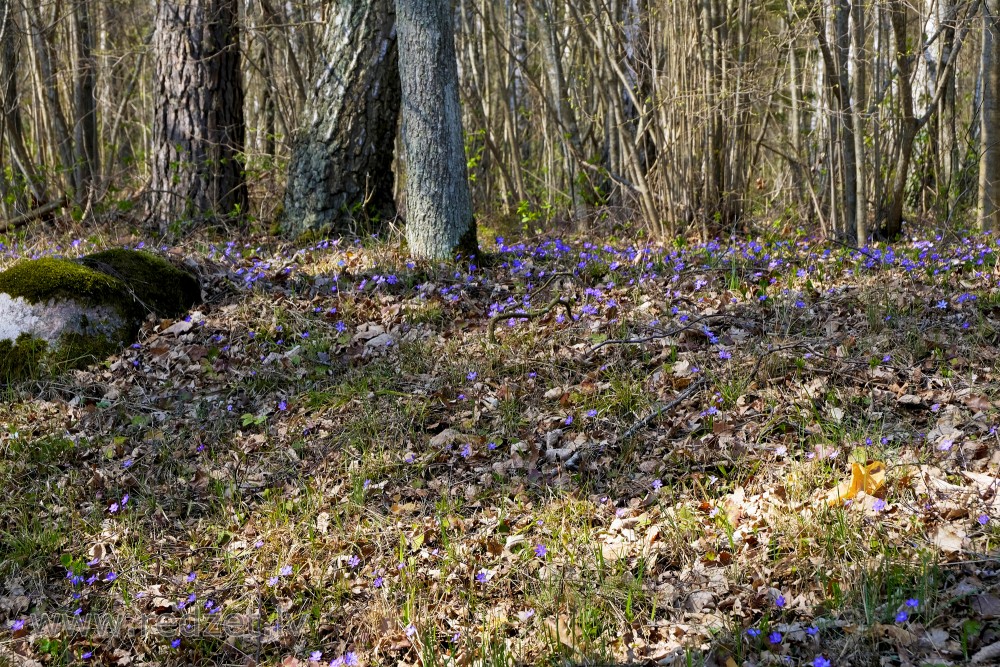
[[[163,232],[246,210],[237,9],[236,0],[157,3],[150,214]]]

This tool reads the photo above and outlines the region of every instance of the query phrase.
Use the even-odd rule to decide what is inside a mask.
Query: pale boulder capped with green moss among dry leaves
[[[200,296],[194,276],[145,252],[20,262],[0,273],[0,382],[103,359],[147,314],[179,315]]]

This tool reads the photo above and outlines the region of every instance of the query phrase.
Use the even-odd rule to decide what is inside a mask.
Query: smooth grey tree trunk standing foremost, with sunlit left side
[[[406,240],[416,257],[478,251],[449,0],[396,0]]]

